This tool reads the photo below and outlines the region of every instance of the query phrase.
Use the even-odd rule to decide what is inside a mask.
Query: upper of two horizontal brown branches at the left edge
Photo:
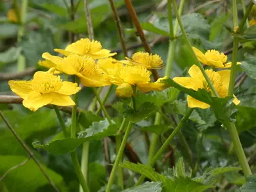
[[[32,75],[37,71],[36,67],[28,67],[25,71],[14,73],[0,73],[0,81],[9,81],[11,79],[21,79],[22,77]]]

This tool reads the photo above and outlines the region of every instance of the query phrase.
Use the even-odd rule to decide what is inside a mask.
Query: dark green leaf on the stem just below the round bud
[[[158,110],[158,106],[156,106],[154,103],[151,102],[144,102],[137,111],[132,109],[129,106],[125,106],[123,110],[123,116],[128,119],[129,121],[132,121],[133,123],[137,123],[138,121],[141,121],[142,119],[145,119],[152,113]]]

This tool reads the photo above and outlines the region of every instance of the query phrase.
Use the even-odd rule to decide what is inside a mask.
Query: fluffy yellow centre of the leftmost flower
[[[49,72],[41,72],[35,74],[32,79],[33,90],[41,94],[54,92],[62,87],[62,79],[60,76],[53,75]]]

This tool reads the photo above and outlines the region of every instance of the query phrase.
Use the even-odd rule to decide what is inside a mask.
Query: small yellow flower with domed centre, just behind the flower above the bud
[[[149,54],[148,52],[135,52],[131,59],[125,57],[122,60],[123,64],[133,66],[144,66],[147,69],[161,69],[163,67],[163,60],[157,54]]]

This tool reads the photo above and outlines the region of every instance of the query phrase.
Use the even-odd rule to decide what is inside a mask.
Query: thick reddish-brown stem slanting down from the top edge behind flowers
[[[148,41],[146,41],[146,37],[145,37],[144,32],[140,26],[138,16],[133,8],[133,5],[131,4],[131,0],[125,0],[125,4],[126,4],[126,7],[131,15],[131,18],[133,20],[133,24],[137,28],[137,32],[139,33],[140,40],[142,41],[142,43],[144,45],[145,51],[148,53],[151,53],[150,45],[148,44]],[[158,78],[160,77],[158,74],[158,71],[156,69],[152,69],[152,74],[153,74],[154,80],[157,81]]]

